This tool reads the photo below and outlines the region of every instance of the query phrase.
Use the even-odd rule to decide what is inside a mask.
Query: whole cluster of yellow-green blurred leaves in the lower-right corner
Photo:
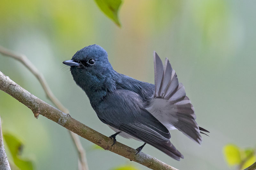
[[[228,166],[239,166],[241,169],[245,169],[256,162],[256,153],[253,148],[241,149],[235,144],[227,144],[224,146],[223,152]]]

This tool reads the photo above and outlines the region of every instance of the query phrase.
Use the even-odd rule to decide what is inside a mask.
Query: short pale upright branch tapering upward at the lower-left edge
[[[2,134],[2,125],[1,125],[1,118],[0,118],[0,169],[2,170],[11,170],[9,165],[5,150],[4,150],[4,141],[3,141],[3,134]]]

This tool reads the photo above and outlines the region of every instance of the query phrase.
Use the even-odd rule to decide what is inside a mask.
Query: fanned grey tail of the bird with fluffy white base
[[[194,107],[169,60],[166,58],[163,66],[160,57],[154,52],[154,66],[155,91],[146,109],[168,129],[179,129],[201,144],[202,137],[195,121]]]

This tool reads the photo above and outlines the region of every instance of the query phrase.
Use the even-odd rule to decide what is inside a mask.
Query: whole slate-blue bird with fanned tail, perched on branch
[[[163,65],[155,51],[154,85],[116,72],[108,53],[96,44],[78,50],[63,64],[70,66],[100,121],[116,132],[110,136],[112,146],[120,135],[144,142],[136,154],[150,144],[179,161],[184,156],[171,143],[170,130],[178,129],[198,144],[200,134],[209,132],[197,125],[194,107],[168,58]]]

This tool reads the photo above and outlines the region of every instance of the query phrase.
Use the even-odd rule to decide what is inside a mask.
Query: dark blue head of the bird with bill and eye
[[[113,68],[108,62],[108,53],[99,45],[90,45],[76,52],[71,60],[63,64],[70,66],[71,74],[78,86],[88,95],[99,92],[111,77]]]

